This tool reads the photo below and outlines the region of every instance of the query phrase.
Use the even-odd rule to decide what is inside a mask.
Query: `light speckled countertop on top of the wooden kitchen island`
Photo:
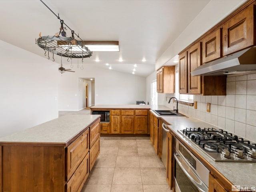
[[[1,142],[67,143],[100,115],[65,115],[0,138]]]

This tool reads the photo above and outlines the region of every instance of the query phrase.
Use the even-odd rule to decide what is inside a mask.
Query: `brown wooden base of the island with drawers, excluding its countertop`
[[[66,143],[1,142],[0,191],[80,192],[100,152],[99,132],[100,118]]]

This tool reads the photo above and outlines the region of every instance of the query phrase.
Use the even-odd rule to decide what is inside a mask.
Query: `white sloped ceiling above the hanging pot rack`
[[[93,52],[86,65],[148,76],[155,62],[210,0],[43,0],[82,40],[119,41],[120,52]],[[0,0],[0,39],[44,56],[35,38],[60,21],[40,0]],[[71,36],[70,30],[66,31]],[[15,56],[15,55],[14,55]],[[98,58],[100,62],[96,62]],[[122,58],[123,62],[118,59]],[[142,62],[142,58],[146,62]],[[55,56],[60,63],[60,57]],[[77,60],[73,60],[77,64]],[[79,60],[79,63],[81,61]],[[63,64],[70,65],[66,59]],[[57,69],[56,69],[57,70]]]

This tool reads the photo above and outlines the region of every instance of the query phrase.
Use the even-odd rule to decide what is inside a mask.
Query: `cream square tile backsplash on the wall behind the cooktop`
[[[179,104],[179,112],[256,142],[256,74],[228,76],[226,96],[194,95],[194,101],[197,109]],[[206,112],[206,103],[210,103],[210,112]],[[164,101],[170,108],[175,104]]]

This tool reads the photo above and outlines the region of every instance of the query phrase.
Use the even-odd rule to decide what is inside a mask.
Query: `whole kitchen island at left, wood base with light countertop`
[[[99,123],[66,115],[0,138],[0,192],[79,192],[100,153]]]

